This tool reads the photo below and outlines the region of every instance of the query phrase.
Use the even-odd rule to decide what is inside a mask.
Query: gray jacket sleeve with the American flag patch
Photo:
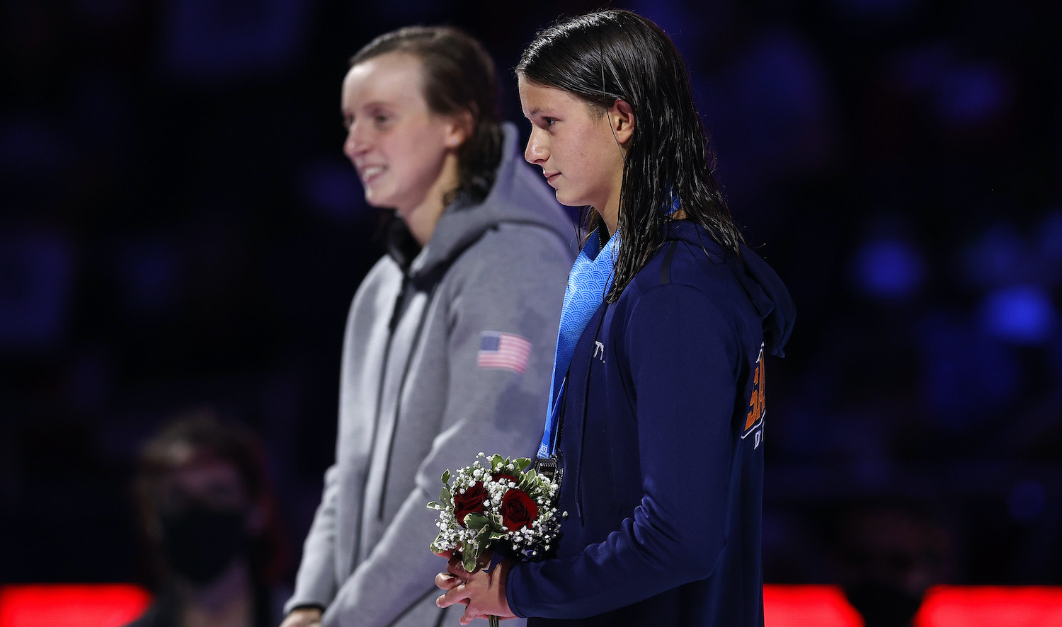
[[[440,433],[416,470],[415,488],[328,607],[325,627],[383,627],[413,604],[433,597],[434,576],[445,570],[445,561],[428,548],[439,528],[438,515],[427,503],[439,498],[443,471],[467,466],[481,451],[533,455],[542,436],[570,258],[534,238],[527,241],[526,233],[520,237],[523,242],[495,233],[491,242],[477,244],[484,249],[468,250],[444,279],[440,290],[448,308],[448,383]],[[523,375],[477,365],[484,331],[513,333],[531,343]]]

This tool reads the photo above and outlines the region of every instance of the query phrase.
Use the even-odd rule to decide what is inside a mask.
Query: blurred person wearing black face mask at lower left
[[[284,555],[259,439],[209,412],[183,416],[142,450],[140,522],[159,577],[130,627],[262,627]]]

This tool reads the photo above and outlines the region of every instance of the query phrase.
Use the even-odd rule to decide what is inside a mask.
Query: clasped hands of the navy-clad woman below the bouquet
[[[441,608],[448,608],[457,603],[466,606],[461,615],[462,625],[492,615],[501,620],[516,617],[516,614],[509,609],[509,600],[506,598],[506,578],[515,560],[504,558],[491,569],[491,572],[481,568],[475,573],[469,573],[464,570],[461,559],[453,557],[453,552],[447,551],[435,555],[449,560],[446,572],[435,575],[435,586],[446,591],[435,599],[435,605]],[[484,557],[489,562],[491,555]]]

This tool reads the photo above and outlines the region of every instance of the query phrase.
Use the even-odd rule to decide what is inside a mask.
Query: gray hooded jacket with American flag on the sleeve
[[[533,456],[542,436],[576,231],[503,128],[487,197],[447,207],[409,263],[383,257],[354,297],[336,461],[286,606],[327,608],[325,627],[444,622],[426,507],[440,475],[480,451]],[[530,342],[526,364],[493,365],[513,335]]]

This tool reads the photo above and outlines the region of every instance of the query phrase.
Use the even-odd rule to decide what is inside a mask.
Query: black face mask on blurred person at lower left
[[[221,575],[247,548],[246,515],[200,505],[160,517],[162,550],[170,567],[193,584]]]

